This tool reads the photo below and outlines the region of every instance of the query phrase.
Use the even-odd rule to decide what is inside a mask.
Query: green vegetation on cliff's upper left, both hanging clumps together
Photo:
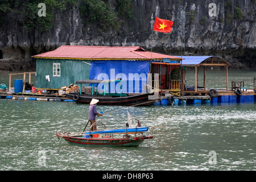
[[[67,7],[71,9],[75,5],[79,6],[85,26],[93,23],[105,30],[109,27],[118,30],[121,26],[120,18],[133,17],[131,0],[116,0],[114,7],[110,6],[109,1],[102,0],[45,0],[43,3],[47,7],[46,16],[38,16],[38,5],[41,2],[42,0],[0,0],[0,26],[8,20],[7,15],[11,15],[11,18],[18,19],[22,27],[27,30],[32,28],[49,30],[57,12],[64,11]]]

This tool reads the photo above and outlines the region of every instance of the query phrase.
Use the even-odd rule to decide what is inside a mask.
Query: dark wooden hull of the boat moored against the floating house
[[[134,96],[124,96],[124,97],[113,97],[113,96],[98,96],[98,95],[86,95],[79,94],[79,96],[75,97],[75,93],[68,93],[66,97],[75,100],[76,102],[80,102],[82,104],[90,104],[92,98],[99,100],[97,105],[119,105],[119,106],[131,106],[131,105],[139,105],[139,106],[151,106],[154,104],[156,100],[148,100],[149,93],[146,94],[137,94]]]

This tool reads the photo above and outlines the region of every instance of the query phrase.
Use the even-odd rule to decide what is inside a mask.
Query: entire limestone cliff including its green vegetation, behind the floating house
[[[39,3],[46,16],[39,16]],[[156,16],[174,22],[170,34],[152,31]],[[6,63],[35,65],[31,56],[61,45],[136,45],[255,68],[255,42],[256,0],[0,0],[0,61]]]

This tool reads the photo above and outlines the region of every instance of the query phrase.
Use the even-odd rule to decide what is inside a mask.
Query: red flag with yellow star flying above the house
[[[155,24],[153,30],[163,33],[169,33],[172,31],[172,24],[174,24],[174,22],[172,22],[171,20],[155,17]]]

